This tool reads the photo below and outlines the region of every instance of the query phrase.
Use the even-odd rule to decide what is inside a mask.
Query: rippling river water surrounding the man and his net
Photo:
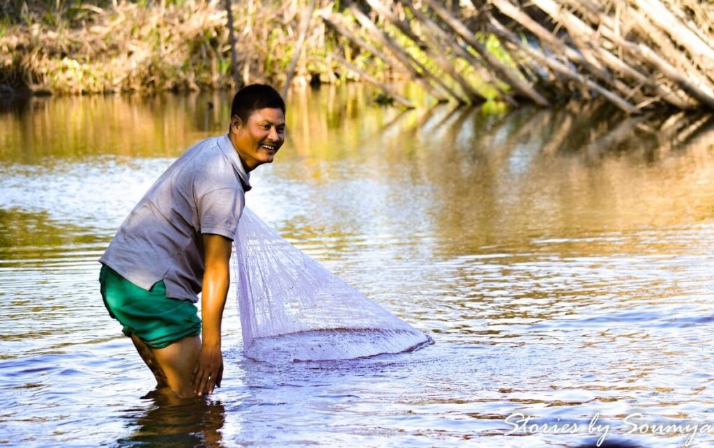
[[[223,387],[178,403],[149,393],[96,260],[161,171],[224,132],[230,98],[0,113],[0,443],[714,442],[713,121],[578,104],[400,112],[372,97],[291,93],[286,146],[247,203],[436,343],[253,362],[232,287]]]

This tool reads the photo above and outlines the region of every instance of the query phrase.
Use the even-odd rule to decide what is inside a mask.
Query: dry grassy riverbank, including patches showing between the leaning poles
[[[443,99],[429,88],[431,81],[422,79],[426,73],[433,79],[439,71],[422,44],[391,30],[396,44],[423,67],[423,73],[407,71],[404,64],[381,57],[381,50],[360,44],[371,39],[369,30],[356,31],[357,43],[336,32],[333,21],[350,27],[358,22],[353,10],[340,11],[332,1],[233,1],[235,73],[224,2],[99,4],[82,2],[59,11],[40,4],[24,15],[17,13],[15,23],[4,22],[0,94],[151,94],[232,90],[252,82],[300,86],[361,80],[383,88],[386,94],[376,97],[378,102],[428,102],[423,91],[436,101]],[[495,57],[509,62],[497,39],[480,39]],[[459,70],[478,86],[475,97],[498,98],[503,92],[489,85],[490,78],[476,67],[460,63]],[[421,84],[410,100],[388,87],[409,79]]]

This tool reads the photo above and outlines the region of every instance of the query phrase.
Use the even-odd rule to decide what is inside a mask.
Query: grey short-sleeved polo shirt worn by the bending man
[[[164,280],[167,297],[197,302],[201,235],[235,238],[249,180],[228,134],[196,143],[131,210],[99,261],[146,290]]]

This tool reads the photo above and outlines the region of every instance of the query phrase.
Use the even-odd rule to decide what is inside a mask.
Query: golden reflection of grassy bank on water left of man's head
[[[31,98],[0,116],[0,160],[51,166],[101,154],[176,157],[185,149],[182,142],[213,135],[221,126],[231,108],[225,97]]]

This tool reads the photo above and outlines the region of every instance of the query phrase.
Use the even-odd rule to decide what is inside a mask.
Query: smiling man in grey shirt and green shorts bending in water
[[[261,84],[241,89],[228,133],[188,148],[129,213],[99,260],[109,314],[124,326],[157,387],[178,397],[221,386],[233,235],[249,173],[271,163],[283,141],[280,95]]]

